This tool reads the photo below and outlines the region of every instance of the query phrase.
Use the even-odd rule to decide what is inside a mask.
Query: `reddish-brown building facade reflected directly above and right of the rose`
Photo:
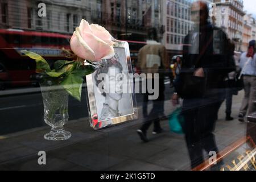
[[[148,9],[151,15],[150,8],[151,1],[102,1],[102,25],[117,39],[144,40],[148,22],[143,14]]]

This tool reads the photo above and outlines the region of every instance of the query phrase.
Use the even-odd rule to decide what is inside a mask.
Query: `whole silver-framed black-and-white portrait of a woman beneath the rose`
[[[129,44],[115,40],[115,56],[86,76],[90,126],[104,129],[138,119]]]

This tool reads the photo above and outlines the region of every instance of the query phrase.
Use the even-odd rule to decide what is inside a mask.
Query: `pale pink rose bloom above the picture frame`
[[[90,61],[110,59],[115,55],[112,36],[98,24],[89,24],[82,19],[71,38],[72,51],[80,58]]]

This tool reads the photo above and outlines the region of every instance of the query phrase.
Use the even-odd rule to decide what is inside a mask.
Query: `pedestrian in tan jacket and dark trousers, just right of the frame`
[[[150,114],[147,114],[148,96],[150,95],[148,90],[143,96],[143,117],[146,121],[142,127],[137,130],[137,133],[144,142],[148,141],[146,134],[152,122],[154,122],[153,134],[162,132],[159,119],[164,115],[164,72],[167,68],[166,48],[160,43],[156,42],[157,33],[155,28],[150,30],[148,33],[151,40],[148,40],[147,45],[139,50],[138,64],[142,73],[159,74],[159,97],[156,100],[152,100],[153,108],[150,111]],[[154,77],[147,78],[147,83],[149,79],[151,79],[152,85],[154,85]]]

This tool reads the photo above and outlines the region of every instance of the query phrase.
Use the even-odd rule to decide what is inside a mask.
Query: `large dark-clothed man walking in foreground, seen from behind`
[[[203,150],[208,154],[210,151],[218,152],[213,130],[217,119],[217,108],[221,102],[219,98],[222,98],[220,97],[222,83],[230,70],[227,69],[228,39],[220,28],[208,23],[207,4],[194,2],[191,13],[195,28],[184,39],[181,73],[193,70],[191,79],[198,79],[199,85],[205,88],[203,94],[195,94],[195,92],[201,93],[202,89],[196,89],[197,85],[191,85],[188,90],[182,90],[186,91],[187,95],[181,96],[184,98],[181,114],[185,121],[183,130],[191,166],[194,168],[204,162]],[[182,85],[189,84],[189,80],[181,77],[179,81]],[[173,96],[173,100],[175,99],[177,99],[176,93]]]

